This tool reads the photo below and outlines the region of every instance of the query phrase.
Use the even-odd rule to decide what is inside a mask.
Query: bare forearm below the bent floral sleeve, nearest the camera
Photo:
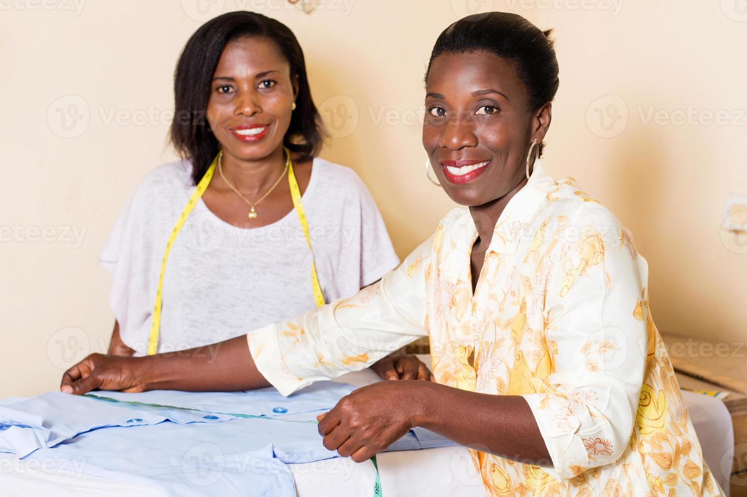
[[[522,463],[552,466],[527,401],[519,395],[489,395],[438,383],[418,382],[417,425],[478,451]]]

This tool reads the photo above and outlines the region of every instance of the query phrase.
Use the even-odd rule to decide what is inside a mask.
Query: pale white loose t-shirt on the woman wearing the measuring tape
[[[167,240],[195,189],[191,171],[189,161],[176,161],[150,173],[100,256],[114,277],[111,306],[120,336],[138,356],[147,351]],[[315,158],[303,207],[326,302],[355,294],[399,264],[353,170]],[[243,229],[199,200],[166,265],[158,352],[221,342],[311,309],[311,252],[295,209],[268,226]]]

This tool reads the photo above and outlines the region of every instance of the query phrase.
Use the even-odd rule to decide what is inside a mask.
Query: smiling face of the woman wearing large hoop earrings
[[[438,182],[462,206],[483,206],[526,181],[530,144],[551,105],[530,109],[511,61],[489,52],[438,55],[426,81],[423,146]]]

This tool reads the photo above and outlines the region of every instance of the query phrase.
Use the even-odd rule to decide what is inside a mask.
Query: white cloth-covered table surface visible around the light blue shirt
[[[430,357],[418,356],[430,366]],[[379,380],[365,369],[344,374],[338,381],[365,386]],[[722,460],[734,450],[734,433],[722,401],[707,395],[683,392],[695,431],[703,446],[704,459],[728,496],[728,475]],[[726,455],[725,455],[726,454]],[[482,480],[464,447],[426,448],[416,451],[384,452],[376,456],[385,497],[459,496],[484,497]],[[729,459],[731,461],[731,459]],[[55,496],[99,497],[102,495],[162,496],[149,487],[106,480],[58,469],[31,468],[24,461],[0,466],[0,495],[8,497]],[[354,463],[349,457],[289,464],[296,481],[298,497],[373,495],[374,472],[371,461]],[[731,467],[731,466],[730,466]],[[205,495],[210,495],[206,490]]]

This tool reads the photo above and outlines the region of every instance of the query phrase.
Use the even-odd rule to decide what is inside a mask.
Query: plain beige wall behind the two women
[[[66,364],[105,350],[111,280],[97,255],[137,182],[173,158],[172,74],[201,23],[195,1],[0,0],[0,398],[55,389]],[[746,250],[721,229],[728,195],[747,194],[737,0],[317,3],[307,15],[280,0],[218,0],[202,20],[246,6],[294,30],[334,137],[322,155],[367,182],[400,256],[451,206],[423,173],[429,50],[468,7],[515,11],[556,30],[548,170],[633,230],[660,329],[745,340]],[[327,114],[338,110],[344,126]],[[709,124],[717,111],[737,123]]]

